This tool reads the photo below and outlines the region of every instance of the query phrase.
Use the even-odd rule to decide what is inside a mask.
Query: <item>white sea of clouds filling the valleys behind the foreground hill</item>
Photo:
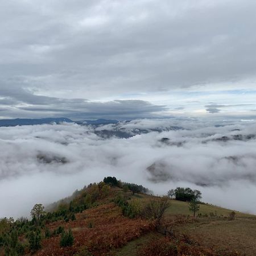
[[[122,131],[130,138],[104,137]],[[101,131],[101,135],[97,135]],[[188,186],[203,201],[256,214],[256,122],[139,119],[99,127],[0,127],[0,217],[29,216],[105,176],[156,195]]]

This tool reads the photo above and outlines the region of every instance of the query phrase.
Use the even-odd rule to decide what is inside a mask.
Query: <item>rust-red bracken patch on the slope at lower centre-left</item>
[[[88,227],[89,223],[93,223],[92,228]],[[153,230],[154,222],[124,217],[121,209],[110,203],[77,213],[75,221],[56,221],[47,228],[55,230],[58,226],[64,226],[65,230],[71,228],[73,246],[60,247],[60,236],[51,237],[42,241],[43,249],[36,255],[73,255],[83,247],[93,255],[106,255],[110,250]]]

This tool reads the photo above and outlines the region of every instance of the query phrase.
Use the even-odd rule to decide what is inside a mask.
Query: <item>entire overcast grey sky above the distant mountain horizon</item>
[[[255,0],[0,2],[0,118],[256,117]]]

